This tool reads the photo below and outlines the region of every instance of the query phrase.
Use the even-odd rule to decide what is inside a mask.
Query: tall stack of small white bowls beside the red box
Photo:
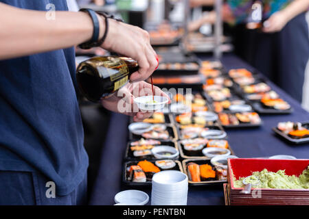
[[[152,177],[151,205],[187,205],[187,175],[177,170]]]

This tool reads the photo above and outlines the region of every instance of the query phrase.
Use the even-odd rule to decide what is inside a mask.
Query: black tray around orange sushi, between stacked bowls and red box
[[[201,186],[201,185],[221,185],[223,183],[227,183],[227,180],[209,180],[209,181],[201,181],[201,182],[194,182],[191,181],[189,178],[189,175],[187,174],[187,164],[190,162],[194,162],[198,165],[201,164],[209,164],[210,166],[213,166],[210,163],[209,159],[184,159],[182,164],[183,164],[183,172],[188,176],[188,183],[189,185],[194,185],[194,186]],[[213,166],[214,167],[214,166]]]

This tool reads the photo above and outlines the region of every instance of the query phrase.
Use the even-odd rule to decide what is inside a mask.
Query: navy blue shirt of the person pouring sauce
[[[65,0],[0,2],[67,10]],[[0,61],[0,170],[39,171],[58,195],[72,192],[88,168],[75,72],[73,48]]]

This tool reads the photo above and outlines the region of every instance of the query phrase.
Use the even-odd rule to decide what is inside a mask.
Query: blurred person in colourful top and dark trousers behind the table
[[[260,28],[248,29],[253,3],[262,5],[264,22],[260,21]],[[211,4],[214,0],[190,0],[192,7]],[[308,0],[227,0],[222,7],[222,19],[231,27],[236,55],[300,103],[309,58],[308,8]],[[211,12],[190,24],[189,29],[198,29],[203,22],[215,20],[216,14]]]

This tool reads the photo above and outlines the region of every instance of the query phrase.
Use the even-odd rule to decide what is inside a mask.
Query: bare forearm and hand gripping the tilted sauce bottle
[[[93,23],[88,14],[55,14],[55,19],[49,20],[47,12],[23,10],[0,3],[0,60],[68,48],[91,39]],[[98,18],[102,38],[104,18]],[[140,68],[131,75],[131,81],[147,79],[158,64],[148,32],[113,19],[108,19],[108,22],[108,34],[101,47],[137,60]]]

